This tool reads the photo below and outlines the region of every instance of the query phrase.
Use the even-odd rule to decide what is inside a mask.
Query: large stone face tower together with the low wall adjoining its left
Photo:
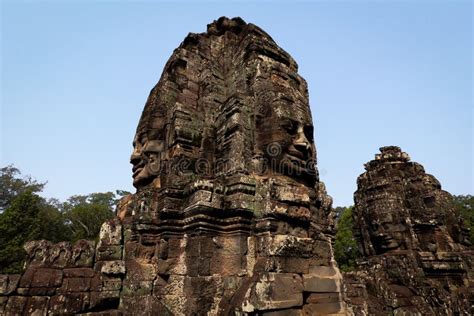
[[[189,34],[141,115],[137,193],[96,246],[27,245],[5,314],[346,314],[305,80],[263,30]],[[90,250],[92,247],[92,251]]]

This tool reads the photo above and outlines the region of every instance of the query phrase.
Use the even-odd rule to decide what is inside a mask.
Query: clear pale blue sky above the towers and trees
[[[1,165],[47,180],[46,197],[133,191],[128,160],[150,89],[188,32],[226,15],[298,62],[336,206],[353,203],[383,145],[472,194],[472,14],[470,1],[3,1]]]

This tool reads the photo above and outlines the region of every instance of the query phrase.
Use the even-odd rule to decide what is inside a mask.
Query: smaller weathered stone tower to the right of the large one
[[[345,273],[356,314],[473,313],[473,251],[452,196],[395,146],[357,180],[353,219],[363,259]]]

